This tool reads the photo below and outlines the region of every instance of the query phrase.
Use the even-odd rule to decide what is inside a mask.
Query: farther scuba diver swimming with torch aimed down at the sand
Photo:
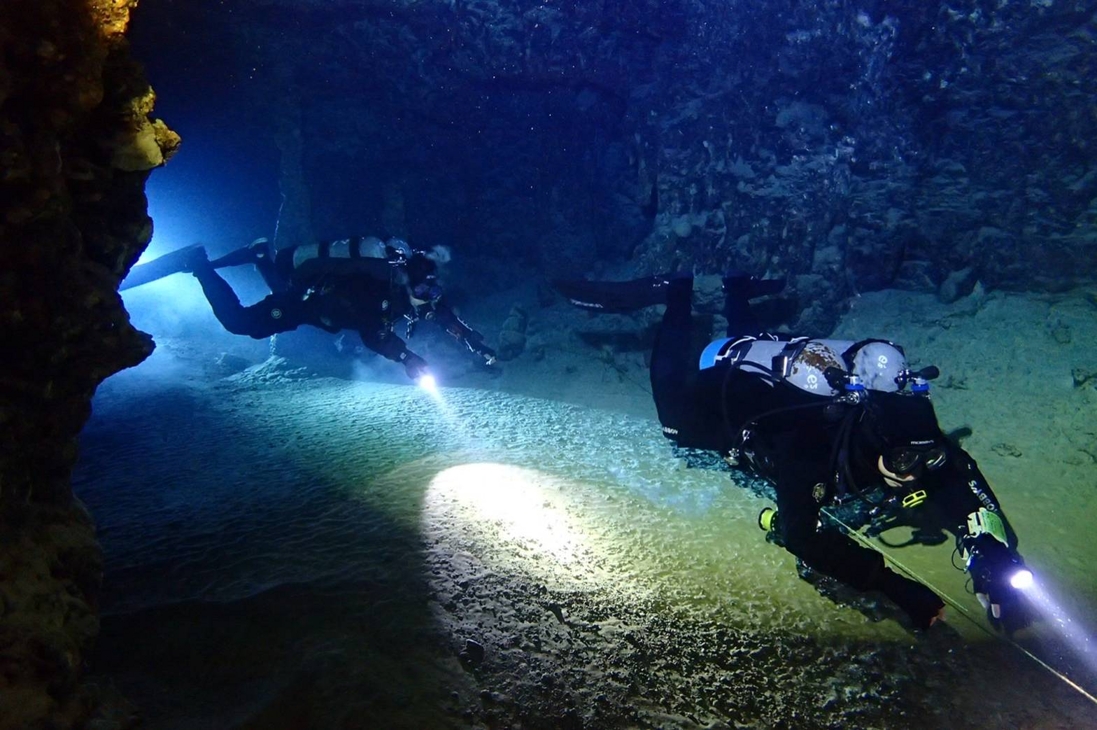
[[[242,306],[216,269],[252,263],[271,294]],[[213,313],[234,335],[257,339],[312,325],[329,333],[354,329],[374,352],[402,362],[409,378],[428,374],[427,362],[394,332],[402,319],[410,336],[426,319],[438,323],[487,364],[495,351],[442,300],[438,263],[399,239],[344,238],[274,251],[265,238],[211,261],[201,246],[185,252],[181,267],[202,284]]]

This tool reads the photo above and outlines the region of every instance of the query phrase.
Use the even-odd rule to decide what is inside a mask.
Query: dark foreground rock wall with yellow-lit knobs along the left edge
[[[0,728],[94,715],[100,551],[73,498],[77,435],[140,362],[118,281],[151,236],[144,186],[179,137],[124,37],[135,0],[0,3]]]

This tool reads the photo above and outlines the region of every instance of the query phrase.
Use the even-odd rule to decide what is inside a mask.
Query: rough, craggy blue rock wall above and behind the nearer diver
[[[816,332],[886,287],[1092,282],[1093,20],[1043,1],[695,7],[663,63],[689,81],[631,104],[660,201],[642,257],[789,276]]]

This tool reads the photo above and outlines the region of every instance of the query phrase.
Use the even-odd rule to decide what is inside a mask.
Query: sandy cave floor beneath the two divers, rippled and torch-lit
[[[497,327],[509,303],[466,314]],[[428,342],[441,400],[391,369],[234,372],[235,340],[161,339],[83,437],[106,557],[92,678],[171,729],[1097,728],[1021,651],[1097,694],[1092,293],[877,293],[837,333],[941,368],[942,425],[972,429],[1061,606],[1017,645],[951,540],[890,549],[960,604],[928,632],[800,580],[756,525],[770,503],[660,436],[621,336],[654,316],[533,307],[494,374]]]

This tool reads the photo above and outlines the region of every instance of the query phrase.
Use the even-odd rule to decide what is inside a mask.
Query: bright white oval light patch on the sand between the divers
[[[474,523],[501,530],[501,538],[572,563],[587,552],[583,530],[564,508],[552,478],[530,469],[498,463],[471,463],[440,472],[430,483],[427,502],[457,503]]]

